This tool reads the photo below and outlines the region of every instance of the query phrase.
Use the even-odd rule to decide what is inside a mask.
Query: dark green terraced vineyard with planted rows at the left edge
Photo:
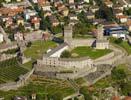
[[[27,71],[19,66],[16,58],[0,62],[0,83],[16,81],[20,75]]]

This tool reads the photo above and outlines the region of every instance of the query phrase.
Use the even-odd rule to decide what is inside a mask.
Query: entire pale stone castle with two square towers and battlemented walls
[[[103,37],[103,27],[98,27],[97,39],[73,39],[72,27],[64,28],[64,43],[43,55],[35,67],[39,73],[54,73],[57,78],[78,78],[96,70],[93,60],[84,58],[60,58],[63,51],[77,46],[92,46],[96,49],[108,49],[109,43]],[[95,44],[95,45],[94,45]],[[68,76],[69,75],[69,76]]]

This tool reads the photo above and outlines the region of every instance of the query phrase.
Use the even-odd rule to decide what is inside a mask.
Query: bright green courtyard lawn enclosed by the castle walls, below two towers
[[[77,55],[76,57],[89,56],[92,59],[99,58],[99,57],[104,56],[110,52],[112,52],[112,51],[109,49],[97,50],[97,49],[93,49],[91,47],[86,47],[86,46],[76,47],[71,51],[72,54]]]

